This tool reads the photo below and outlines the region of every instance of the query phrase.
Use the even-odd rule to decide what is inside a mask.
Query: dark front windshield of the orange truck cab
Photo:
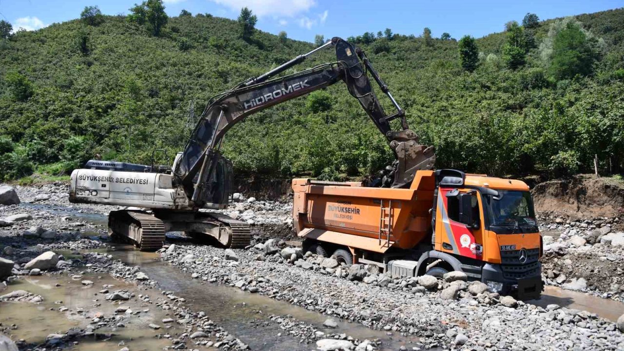
[[[497,190],[499,196],[485,197],[490,225],[501,227],[535,227],[535,210],[528,191]],[[521,232],[524,232],[522,230]]]

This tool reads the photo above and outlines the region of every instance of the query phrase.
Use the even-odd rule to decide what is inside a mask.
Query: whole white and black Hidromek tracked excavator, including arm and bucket
[[[330,47],[336,52],[335,62],[277,77]],[[384,112],[368,74],[390,99],[394,113]],[[155,166],[154,154],[150,166],[90,160],[84,169],[72,172],[69,200],[126,207],[110,212],[109,232],[132,240],[141,250],[160,249],[165,232],[170,231],[208,235],[225,247],[245,247],[250,243],[246,222],[200,211],[225,208],[232,194],[232,162],[220,152],[223,137],[251,114],[339,81],[358,99],[396,156],[392,166],[386,167],[381,186],[409,187],[416,171],[432,169],[432,147],[418,143],[418,137],[407,126],[404,111],[364,52],[334,37],[307,54],[212,97],[172,167]],[[397,131],[391,129],[394,119],[400,121],[401,129]]]

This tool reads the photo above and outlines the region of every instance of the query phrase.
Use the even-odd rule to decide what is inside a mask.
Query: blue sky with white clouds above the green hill
[[[127,14],[140,0],[0,0],[0,19],[14,29],[39,29],[54,22],[74,19],[87,5],[97,5],[104,14]],[[248,6],[258,15],[256,27],[288,37],[314,41],[315,34],[357,36],[386,27],[401,34],[420,35],[424,27],[432,35],[442,32],[459,38],[465,34],[482,37],[502,31],[505,22],[522,21],[527,12],[540,19],[570,16],[624,7],[624,0],[541,0],[541,1],[422,1],[422,0],[164,0],[170,16],[187,9],[196,14],[235,19]]]

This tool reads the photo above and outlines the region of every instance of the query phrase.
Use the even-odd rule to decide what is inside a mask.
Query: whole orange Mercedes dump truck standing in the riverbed
[[[304,250],[393,277],[458,270],[492,291],[542,292],[542,237],[529,186],[442,169],[409,189],[293,179],[293,222]]]

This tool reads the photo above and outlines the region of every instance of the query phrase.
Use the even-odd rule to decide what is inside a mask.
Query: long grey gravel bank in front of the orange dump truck
[[[239,260],[233,265],[223,258],[224,250],[215,247],[184,245],[172,253],[162,251],[162,259],[189,276],[196,273],[209,282],[246,291],[253,287],[257,294],[373,329],[418,335],[423,349],[452,347],[457,341],[477,350],[512,345],[529,350],[624,347],[624,336],[613,322],[566,307],[547,310],[512,297],[479,292],[482,286],[471,283],[473,295],[461,279],[449,283],[434,277],[406,280],[379,274],[390,281],[383,287],[379,278],[373,284],[348,280],[348,270],[323,267],[326,259],[316,255],[296,261],[313,265],[313,269],[305,269],[290,264],[281,252],[256,261],[256,249],[234,250]],[[189,254],[197,259],[183,262]],[[429,288],[419,284],[421,279]],[[453,298],[444,299],[447,289],[454,292]],[[463,337],[457,339],[459,334]],[[593,337],[595,334],[601,337]]]

